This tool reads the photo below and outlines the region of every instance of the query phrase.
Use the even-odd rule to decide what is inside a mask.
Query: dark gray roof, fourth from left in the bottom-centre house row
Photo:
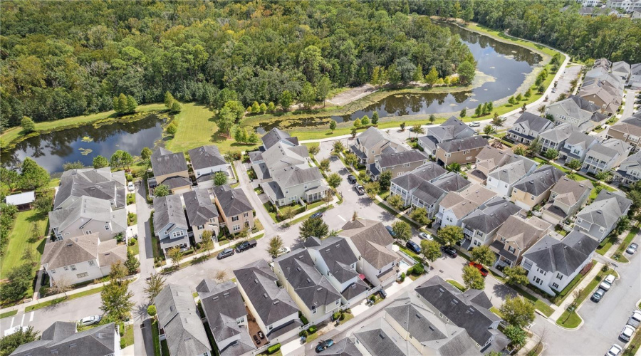
[[[340,300],[338,290],[314,267],[313,258],[308,250],[291,251],[273,262],[278,264],[298,298],[301,298],[310,310],[323,305],[333,305],[336,300]]]

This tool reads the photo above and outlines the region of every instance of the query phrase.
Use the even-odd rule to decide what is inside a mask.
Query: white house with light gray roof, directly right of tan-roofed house
[[[537,165],[532,159],[506,154],[501,165],[487,174],[486,187],[501,197],[509,197],[514,184],[532,174]]]

